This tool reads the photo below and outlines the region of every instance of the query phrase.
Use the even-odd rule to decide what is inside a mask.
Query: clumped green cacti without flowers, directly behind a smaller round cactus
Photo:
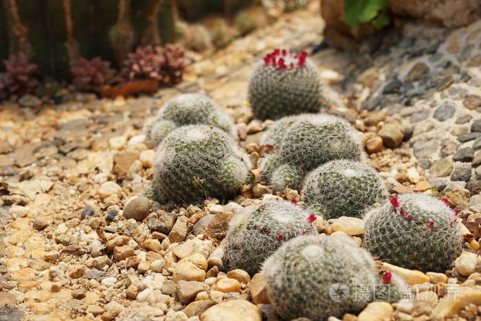
[[[364,157],[358,133],[342,118],[302,115],[297,121],[280,122],[282,125],[275,130],[282,142],[273,142],[278,149],[260,164],[261,178],[276,190],[300,189],[306,173],[331,160],[360,161]]]

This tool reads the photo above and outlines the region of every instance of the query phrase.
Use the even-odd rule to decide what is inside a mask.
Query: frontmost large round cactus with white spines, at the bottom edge
[[[271,303],[285,320],[356,313],[379,283],[374,259],[348,236],[298,236],[265,261],[262,274]]]

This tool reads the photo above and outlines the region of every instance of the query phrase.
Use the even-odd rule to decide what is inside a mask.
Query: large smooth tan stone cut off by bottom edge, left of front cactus
[[[207,309],[201,321],[262,321],[260,309],[247,300],[230,300]]]

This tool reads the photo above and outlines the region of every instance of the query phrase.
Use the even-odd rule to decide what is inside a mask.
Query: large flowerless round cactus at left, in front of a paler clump
[[[207,125],[182,126],[159,145],[155,156],[155,192],[159,203],[199,203],[225,199],[240,190],[249,160],[230,135]]]

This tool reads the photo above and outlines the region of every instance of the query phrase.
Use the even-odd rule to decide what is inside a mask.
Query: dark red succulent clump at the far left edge
[[[3,60],[3,65],[6,71],[0,73],[0,99],[12,93],[30,93],[38,86],[34,76],[38,66],[30,63],[25,54],[12,55]]]

